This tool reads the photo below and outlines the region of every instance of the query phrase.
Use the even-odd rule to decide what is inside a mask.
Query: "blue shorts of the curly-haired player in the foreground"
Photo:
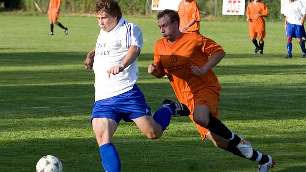
[[[132,122],[131,119],[151,115],[151,108],[147,105],[143,93],[135,84],[133,89],[120,95],[98,100],[93,105],[91,123],[94,118],[113,119],[119,124],[123,119]]]

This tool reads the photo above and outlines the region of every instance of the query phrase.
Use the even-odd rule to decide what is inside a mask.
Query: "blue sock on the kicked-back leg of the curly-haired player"
[[[155,112],[153,119],[162,127],[163,131],[165,131],[170,123],[171,117],[172,112],[170,109],[163,107]]]

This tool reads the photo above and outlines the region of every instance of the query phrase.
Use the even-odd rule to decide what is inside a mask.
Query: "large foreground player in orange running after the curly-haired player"
[[[154,63],[149,65],[148,73],[157,78],[167,74],[179,102],[190,109],[189,117],[202,139],[258,162],[258,172],[267,172],[275,164],[272,157],[255,151],[217,119],[221,86],[212,68],[225,56],[222,47],[201,34],[181,33],[174,10],[161,11],[157,18],[164,38],[155,43]],[[169,102],[163,100],[163,104]]]

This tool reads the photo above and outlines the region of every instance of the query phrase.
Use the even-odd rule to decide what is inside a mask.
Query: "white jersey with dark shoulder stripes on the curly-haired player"
[[[137,59],[124,71],[110,76],[107,71],[118,66],[128,52],[128,47],[142,48],[142,31],[122,17],[114,29],[102,29],[97,39],[93,69],[95,72],[95,101],[117,96],[133,88],[138,79]]]

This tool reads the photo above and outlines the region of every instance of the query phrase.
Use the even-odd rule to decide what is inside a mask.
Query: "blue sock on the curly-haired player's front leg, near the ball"
[[[102,165],[106,172],[121,172],[121,162],[115,146],[106,143],[100,146]]]

